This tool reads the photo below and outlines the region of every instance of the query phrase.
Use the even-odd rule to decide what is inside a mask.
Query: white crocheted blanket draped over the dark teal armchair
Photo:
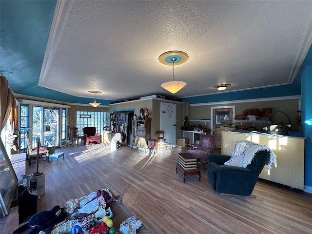
[[[232,165],[238,167],[246,168],[248,164],[254,158],[254,155],[261,150],[266,150],[270,152],[270,159],[268,164],[268,175],[270,175],[270,170],[272,168],[272,163],[277,167],[276,156],[273,151],[264,145],[256,144],[249,140],[241,140],[236,143],[235,149],[233,151],[232,157],[229,161],[225,162],[225,165]]]

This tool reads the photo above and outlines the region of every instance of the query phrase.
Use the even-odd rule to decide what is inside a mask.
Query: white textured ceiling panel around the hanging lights
[[[289,84],[311,46],[312,1],[67,0],[51,6],[53,21],[34,13],[49,32],[35,80],[75,97],[93,98],[87,91],[98,90],[97,99],[106,100],[180,98],[220,93],[213,86],[222,83],[232,84],[226,92]],[[1,42],[5,53],[7,47]],[[189,55],[175,66],[176,80],[187,82],[175,95],[160,87],[173,70],[158,57],[171,50]],[[3,75],[14,83],[12,65],[4,63]]]

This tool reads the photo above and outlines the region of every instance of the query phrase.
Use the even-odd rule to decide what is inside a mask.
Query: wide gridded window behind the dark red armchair
[[[76,117],[79,136],[82,136],[84,127],[96,127],[97,133],[100,133],[109,124],[108,112],[77,111]]]

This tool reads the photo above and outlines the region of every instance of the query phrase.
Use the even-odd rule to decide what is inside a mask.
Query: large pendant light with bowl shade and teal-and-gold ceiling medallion
[[[168,81],[161,84],[161,87],[165,90],[168,90],[170,93],[175,94],[180,89],[182,89],[186,82],[184,81],[178,81],[175,77],[175,64],[179,65],[184,63],[189,56],[182,52],[182,51],[168,51],[163,54],[161,54],[158,58],[159,62],[165,65],[173,66],[174,75],[172,77],[172,81]]]

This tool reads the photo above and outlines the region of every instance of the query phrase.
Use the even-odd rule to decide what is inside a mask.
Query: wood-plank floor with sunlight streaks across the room
[[[123,203],[142,220],[151,234],[311,234],[312,195],[259,179],[249,197],[215,193],[206,172],[176,174],[175,147],[165,154],[144,154],[131,147],[110,152],[110,145],[67,146],[48,163],[39,163],[45,173],[45,194],[38,211],[109,188],[123,195]],[[26,165],[34,173],[36,163]]]

